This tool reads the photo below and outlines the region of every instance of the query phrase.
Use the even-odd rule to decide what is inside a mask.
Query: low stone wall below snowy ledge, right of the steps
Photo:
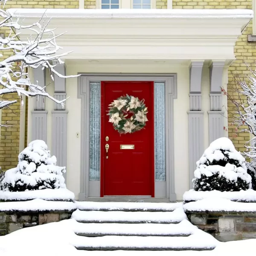
[[[256,239],[256,212],[187,212],[189,221],[219,241]]]

